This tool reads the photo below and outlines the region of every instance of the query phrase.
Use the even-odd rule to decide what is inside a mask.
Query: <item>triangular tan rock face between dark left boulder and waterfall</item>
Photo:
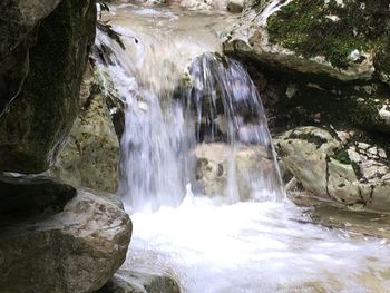
[[[105,96],[88,68],[81,86],[81,110],[51,173],[75,186],[115,193],[118,165],[118,137]]]

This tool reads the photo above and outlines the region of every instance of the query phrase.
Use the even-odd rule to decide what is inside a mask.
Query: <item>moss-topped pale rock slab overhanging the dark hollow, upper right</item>
[[[269,66],[342,81],[389,80],[389,2],[252,0],[223,49]],[[389,81],[390,82],[390,81]]]

